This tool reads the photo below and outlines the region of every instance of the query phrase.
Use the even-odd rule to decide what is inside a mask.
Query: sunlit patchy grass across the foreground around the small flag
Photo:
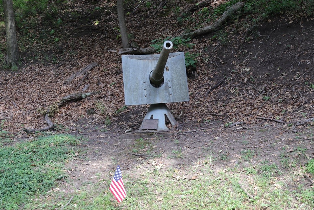
[[[141,141],[138,139],[138,141]],[[255,167],[234,170],[232,167],[217,169],[209,164],[211,157],[190,167],[172,168],[162,159],[147,161],[136,168],[122,169],[127,198],[117,203],[109,191],[113,172],[108,176],[99,173],[97,180],[85,182],[80,190],[65,194],[56,192],[51,199],[37,200],[32,207],[37,209],[60,208],[73,200],[67,209],[312,209],[313,189],[300,186],[297,192],[289,189],[298,173],[287,177],[265,177]],[[266,168],[264,162],[259,170]],[[268,164],[269,165],[269,164]],[[295,175],[297,174],[297,175]],[[101,179],[101,177],[105,177]],[[254,199],[241,189],[241,185]],[[299,183],[300,184],[300,183]],[[25,209],[32,209],[30,204]]]

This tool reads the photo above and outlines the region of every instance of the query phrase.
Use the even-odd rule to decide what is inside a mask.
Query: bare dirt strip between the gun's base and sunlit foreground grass
[[[109,179],[118,163],[124,173],[130,173],[152,160],[166,165],[166,169],[196,165],[211,157],[213,167],[241,168],[268,163],[285,173],[306,165],[314,157],[311,126],[288,127],[268,122],[233,128],[220,125],[205,130],[197,128],[219,124],[191,122],[184,126],[181,133],[176,130],[169,137],[154,134],[152,138],[134,140],[120,139],[120,135],[100,132],[99,128],[83,131],[87,138],[81,145],[86,151],[85,158],[78,157],[67,166],[72,169],[68,173],[75,188],[99,178]]]

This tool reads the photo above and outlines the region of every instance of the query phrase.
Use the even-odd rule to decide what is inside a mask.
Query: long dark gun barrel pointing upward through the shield
[[[166,66],[166,62],[168,60],[168,56],[169,56],[171,48],[172,48],[172,42],[165,41],[163,48],[161,50],[159,59],[157,61],[157,64],[154,70],[149,75],[151,84],[157,88],[164,81],[165,66]]]

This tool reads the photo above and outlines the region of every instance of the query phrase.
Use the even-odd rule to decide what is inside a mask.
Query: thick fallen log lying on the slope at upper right
[[[222,25],[229,17],[231,14],[233,14],[234,12],[236,12],[238,9],[241,9],[244,6],[244,4],[242,2],[238,2],[234,5],[232,5],[227,11],[224,12],[224,14],[222,14],[222,16],[216,20],[216,22],[213,23],[213,25],[211,26],[205,26],[203,28],[200,28],[198,30],[192,31],[190,33],[186,33],[182,35],[182,38],[187,39],[187,38],[195,38],[195,37],[199,37],[201,35],[205,35],[208,34],[210,32],[213,32],[214,30],[216,30],[220,25]]]

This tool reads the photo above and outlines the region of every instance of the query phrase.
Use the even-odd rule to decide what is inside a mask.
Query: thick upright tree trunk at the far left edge
[[[5,21],[5,31],[7,38],[7,56],[6,62],[10,65],[16,65],[19,60],[19,46],[16,38],[16,29],[14,22],[14,12],[12,0],[3,0],[3,11]]]

